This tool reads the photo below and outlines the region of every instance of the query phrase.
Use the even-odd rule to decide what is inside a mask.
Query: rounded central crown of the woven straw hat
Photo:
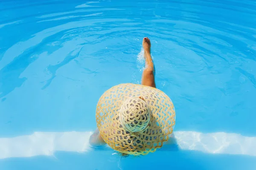
[[[150,114],[148,104],[138,97],[127,99],[120,109],[122,125],[133,133],[145,130],[150,122]]]

